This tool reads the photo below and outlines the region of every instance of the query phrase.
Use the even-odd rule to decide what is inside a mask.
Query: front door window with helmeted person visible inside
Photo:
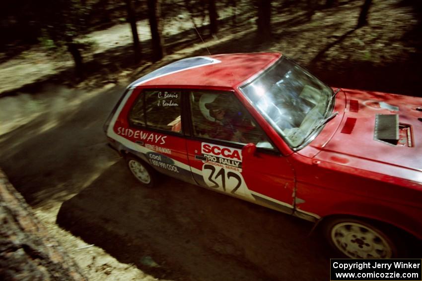
[[[233,93],[195,91],[190,103],[194,136],[274,149]]]

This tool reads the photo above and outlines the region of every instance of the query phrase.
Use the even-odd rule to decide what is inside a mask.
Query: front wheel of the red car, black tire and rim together
[[[407,251],[397,235],[398,229],[376,221],[336,217],[322,224],[330,245],[343,257],[389,259],[403,256]]]

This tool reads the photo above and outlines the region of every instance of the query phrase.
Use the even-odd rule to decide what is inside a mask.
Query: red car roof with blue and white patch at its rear
[[[158,68],[129,85],[236,87],[281,57],[279,53],[195,56]]]

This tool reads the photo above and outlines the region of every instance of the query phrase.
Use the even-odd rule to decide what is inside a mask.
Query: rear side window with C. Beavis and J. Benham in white
[[[134,126],[181,133],[181,92],[143,91],[129,112]]]

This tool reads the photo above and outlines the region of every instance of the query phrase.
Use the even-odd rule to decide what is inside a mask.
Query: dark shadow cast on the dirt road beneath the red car
[[[328,279],[312,224],[175,179],[144,188],[123,161],[64,202],[57,223],[156,278]]]

